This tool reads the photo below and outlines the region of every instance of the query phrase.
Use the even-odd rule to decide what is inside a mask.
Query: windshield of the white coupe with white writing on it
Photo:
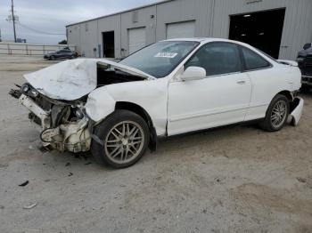
[[[119,63],[155,76],[168,76],[200,43],[194,41],[162,41],[145,47]]]

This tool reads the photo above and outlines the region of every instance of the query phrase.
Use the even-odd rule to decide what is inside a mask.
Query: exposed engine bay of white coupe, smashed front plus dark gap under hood
[[[142,76],[111,68],[109,64],[97,64],[94,89],[108,84],[142,80]],[[56,100],[40,92],[41,89],[35,88],[30,82],[16,86],[18,89],[12,89],[10,94],[29,109],[30,121],[41,127],[40,139],[45,148],[74,153],[90,149],[90,125],[94,123],[90,124],[92,120],[86,116],[84,109],[88,93],[78,100]]]

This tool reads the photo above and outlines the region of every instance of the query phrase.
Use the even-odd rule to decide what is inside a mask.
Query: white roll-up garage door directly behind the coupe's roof
[[[195,36],[195,21],[167,24],[167,39]]]

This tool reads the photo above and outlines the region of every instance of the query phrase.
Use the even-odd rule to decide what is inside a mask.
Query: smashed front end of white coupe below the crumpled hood
[[[84,152],[90,149],[88,118],[83,112],[86,98],[53,100],[37,92],[30,84],[18,86],[10,94],[29,109],[29,119],[40,126],[40,139],[46,149]]]

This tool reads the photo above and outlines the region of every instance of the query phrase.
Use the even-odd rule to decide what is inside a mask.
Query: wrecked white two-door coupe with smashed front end
[[[160,137],[257,121],[297,125],[297,63],[236,41],[171,39],[124,60],[66,60],[25,75],[11,94],[41,126],[46,148],[91,150],[105,165],[134,165]]]

